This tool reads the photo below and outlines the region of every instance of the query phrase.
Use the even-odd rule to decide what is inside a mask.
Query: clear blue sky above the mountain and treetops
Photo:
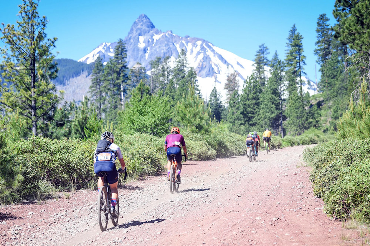
[[[330,24],[334,0],[260,1],[126,1],[40,0],[38,12],[49,20],[46,33],[57,37],[57,58],[78,60],[102,42],[124,38],[140,14],[159,30],[203,38],[239,57],[253,60],[262,43],[285,58],[286,38],[293,24],[303,36],[305,72],[315,79],[316,21],[326,13]],[[0,23],[16,24],[21,0],[1,0]],[[3,43],[0,42],[0,46]],[[319,80],[317,66],[317,80]]]

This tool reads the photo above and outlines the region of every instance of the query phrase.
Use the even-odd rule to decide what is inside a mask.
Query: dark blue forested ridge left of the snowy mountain
[[[83,72],[87,72],[87,76],[91,74],[93,63],[86,64],[72,59],[55,59],[58,66],[58,77],[53,79],[55,85],[66,85],[66,82],[71,78],[78,77]]]

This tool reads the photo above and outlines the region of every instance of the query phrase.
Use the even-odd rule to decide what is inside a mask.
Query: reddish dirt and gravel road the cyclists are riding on
[[[0,245],[363,245],[314,196],[304,146],[184,163],[179,192],[166,174],[121,186],[118,226],[97,223],[97,191],[2,206]]]

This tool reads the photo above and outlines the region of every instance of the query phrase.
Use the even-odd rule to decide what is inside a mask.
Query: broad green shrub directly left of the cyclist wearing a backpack
[[[19,154],[14,158],[17,165],[27,167],[24,177],[24,195],[34,194],[38,181],[48,181],[55,186],[66,187],[72,178],[77,187],[85,187],[85,182],[94,174],[93,155],[95,143],[82,140],[51,140],[31,137],[17,143]]]

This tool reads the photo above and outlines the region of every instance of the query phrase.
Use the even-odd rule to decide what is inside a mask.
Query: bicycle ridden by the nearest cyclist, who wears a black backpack
[[[122,170],[120,168],[118,172],[125,172],[125,177],[124,177],[124,180],[125,180],[127,177],[126,168],[125,170]],[[104,232],[107,229],[109,218],[112,220],[112,224],[114,226],[118,225],[118,217],[120,215],[120,204],[119,204],[118,197],[117,197],[117,202],[115,205],[115,211],[117,213],[117,216],[113,215],[110,210],[111,201],[112,201],[112,192],[107,182],[108,172],[101,171],[98,173],[98,175],[102,176],[102,179],[104,180],[104,186],[100,187],[99,189],[98,202],[97,202],[99,227],[100,227],[100,230]]]

